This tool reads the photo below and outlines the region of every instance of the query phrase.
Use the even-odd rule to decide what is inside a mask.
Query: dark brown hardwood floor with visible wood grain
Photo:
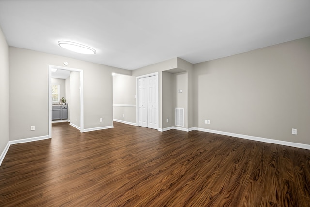
[[[310,151],[224,135],[114,122],[11,145],[0,206],[308,207]]]

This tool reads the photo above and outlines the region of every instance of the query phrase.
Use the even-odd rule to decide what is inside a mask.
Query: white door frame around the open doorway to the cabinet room
[[[80,131],[84,132],[84,78],[83,70],[70,67],[48,65],[48,136],[52,137],[52,69],[76,71],[80,73]]]

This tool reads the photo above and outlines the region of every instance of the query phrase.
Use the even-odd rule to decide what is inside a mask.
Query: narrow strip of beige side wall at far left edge
[[[9,142],[9,47],[0,28],[0,155]]]

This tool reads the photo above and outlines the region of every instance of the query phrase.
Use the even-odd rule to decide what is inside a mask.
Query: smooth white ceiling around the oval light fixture
[[[132,70],[310,36],[310,0],[0,0],[0,26],[10,46]],[[97,53],[67,51],[59,40]]]

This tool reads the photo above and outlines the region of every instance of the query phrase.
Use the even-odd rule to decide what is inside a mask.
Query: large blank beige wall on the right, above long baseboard
[[[310,144],[310,37],[195,64],[193,83],[197,127]]]

